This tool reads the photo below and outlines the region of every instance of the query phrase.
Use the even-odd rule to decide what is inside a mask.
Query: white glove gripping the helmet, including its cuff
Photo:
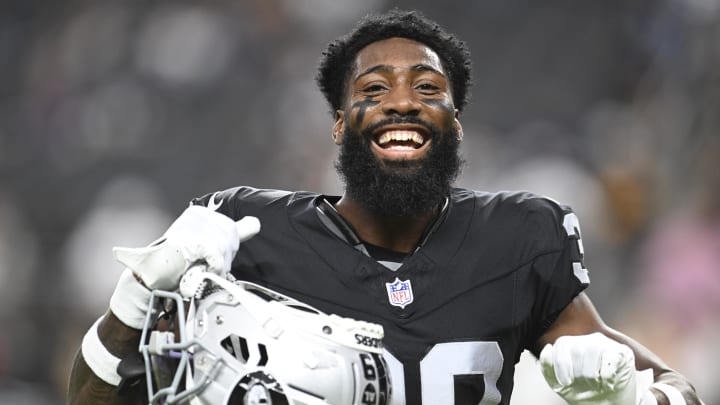
[[[115,259],[127,268],[110,299],[110,309],[125,325],[141,329],[150,290],[176,290],[182,275],[195,265],[227,273],[240,243],[259,230],[255,217],[235,222],[207,207],[188,207],[150,246],[113,248]]]

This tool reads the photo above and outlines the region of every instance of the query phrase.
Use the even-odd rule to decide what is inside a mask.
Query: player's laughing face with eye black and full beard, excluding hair
[[[411,217],[413,224],[430,214],[428,221],[461,163],[462,130],[440,58],[419,42],[391,38],[359,51],[351,71],[333,128],[346,186],[336,208],[343,216],[362,208],[376,218]]]

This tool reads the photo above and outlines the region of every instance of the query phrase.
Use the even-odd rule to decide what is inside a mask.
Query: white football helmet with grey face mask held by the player
[[[201,268],[188,270],[180,294],[153,291],[150,308],[160,301],[174,302],[178,322],[175,331],[159,331],[162,314],[145,319],[140,352],[151,404],[390,402],[380,325]]]

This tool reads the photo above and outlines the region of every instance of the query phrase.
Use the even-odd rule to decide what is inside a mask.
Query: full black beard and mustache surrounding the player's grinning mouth
[[[430,130],[432,144],[420,160],[377,159],[371,132],[380,126],[413,123]],[[369,212],[385,217],[409,217],[430,212],[450,195],[463,160],[460,139],[453,126],[446,133],[414,117],[390,119],[368,127],[362,134],[344,128],[335,169],[345,192]]]

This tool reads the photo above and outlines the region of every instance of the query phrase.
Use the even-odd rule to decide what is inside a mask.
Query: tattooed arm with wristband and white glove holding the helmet
[[[117,366],[138,351],[151,290],[177,289],[183,273],[198,263],[214,273],[229,271],[240,242],[258,231],[255,218],[235,222],[207,207],[192,206],[150,246],[116,248],[116,259],[127,268],[110,299],[110,310],[83,338],[70,376],[68,402],[147,403],[145,384],[118,392],[121,378]]]

